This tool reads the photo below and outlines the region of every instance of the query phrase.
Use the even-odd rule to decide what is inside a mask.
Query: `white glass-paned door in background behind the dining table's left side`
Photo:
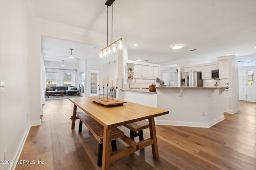
[[[88,70],[88,97],[99,95],[100,70]]]

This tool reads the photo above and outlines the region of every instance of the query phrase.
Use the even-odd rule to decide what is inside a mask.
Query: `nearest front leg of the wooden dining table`
[[[102,170],[110,169],[110,154],[111,154],[111,128],[104,127],[103,133],[103,153],[102,153]]]

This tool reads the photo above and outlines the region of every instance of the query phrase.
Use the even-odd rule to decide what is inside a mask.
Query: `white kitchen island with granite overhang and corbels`
[[[156,124],[211,127],[224,120],[224,90],[214,87],[156,87],[157,108],[170,114],[157,118]]]

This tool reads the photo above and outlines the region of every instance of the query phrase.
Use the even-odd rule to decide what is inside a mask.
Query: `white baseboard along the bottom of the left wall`
[[[22,140],[20,141],[20,145],[19,145],[19,147],[14,155],[14,158],[12,160],[19,160],[20,154],[22,152],[22,149],[23,149],[26,139],[28,137],[28,133],[30,131],[30,127],[37,126],[37,125],[41,125],[41,119],[40,119],[40,121],[32,121],[28,124],[28,127],[22,137]],[[15,167],[16,167],[16,164],[10,164],[9,170],[15,170]]]

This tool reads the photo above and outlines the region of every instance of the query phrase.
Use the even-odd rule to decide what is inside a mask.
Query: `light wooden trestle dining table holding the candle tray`
[[[168,114],[169,111],[132,102],[123,102],[123,104],[116,103],[117,105],[106,106],[95,102],[97,98],[98,97],[81,97],[70,98],[69,100],[74,104],[73,115],[71,117],[72,129],[74,129],[76,119],[78,119],[78,117],[76,117],[77,107],[82,109],[82,111],[90,115],[104,127],[102,170],[109,170],[111,162],[150,145],[152,146],[153,157],[158,157],[154,117]],[[115,104],[113,101],[112,103]],[[111,128],[144,119],[148,119],[149,122],[150,138],[135,142],[124,135],[121,139],[129,146],[111,152]]]

